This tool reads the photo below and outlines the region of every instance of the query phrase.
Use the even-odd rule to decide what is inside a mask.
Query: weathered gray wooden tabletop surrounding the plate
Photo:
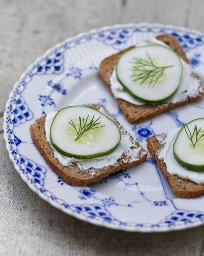
[[[78,221],[21,180],[3,140],[5,103],[23,71],[78,32],[122,22],[161,22],[204,32],[204,0],[0,0],[0,256],[204,255],[204,226],[139,234]]]

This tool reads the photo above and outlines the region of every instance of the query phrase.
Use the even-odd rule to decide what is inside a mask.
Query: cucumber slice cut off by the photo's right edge
[[[204,118],[192,120],[187,125],[184,125],[173,144],[173,155],[176,161],[185,169],[204,172],[204,136],[198,141],[196,140],[195,125],[197,131],[200,130],[197,139],[204,134]],[[192,137],[189,131],[193,135]]]

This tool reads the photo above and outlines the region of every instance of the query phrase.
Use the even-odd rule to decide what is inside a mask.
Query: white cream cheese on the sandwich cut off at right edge
[[[163,160],[167,166],[167,172],[171,175],[178,175],[183,179],[189,179],[198,184],[204,183],[204,172],[194,172],[183,168],[173,156],[173,143],[181,128],[173,129],[167,133],[167,137],[163,140],[158,136],[158,141],[164,144],[163,149],[159,152],[158,158]]]

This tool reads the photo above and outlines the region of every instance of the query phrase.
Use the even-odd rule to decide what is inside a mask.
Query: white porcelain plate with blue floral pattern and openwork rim
[[[68,105],[102,103],[146,148],[153,134],[203,116],[204,101],[130,125],[99,80],[100,61],[150,35],[175,36],[196,70],[204,69],[204,35],[161,24],[105,27],[69,38],[47,51],[15,83],[4,113],[9,157],[28,186],[41,198],[83,221],[127,231],[158,232],[204,223],[204,197],[176,198],[148,155],[142,165],[123,170],[89,187],[69,186],[46,164],[31,141],[35,118]]]

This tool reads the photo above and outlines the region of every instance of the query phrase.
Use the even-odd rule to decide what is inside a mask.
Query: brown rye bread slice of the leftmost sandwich
[[[130,135],[102,105],[91,105],[91,107],[94,107],[95,109],[103,109],[103,112],[105,112],[105,114],[108,115],[108,117],[110,117],[120,127],[121,134],[124,133]],[[131,166],[136,166],[137,164],[144,162],[147,157],[146,150],[144,150],[138,142],[134,141],[133,137],[130,135],[130,141],[133,144],[133,147],[140,148],[136,159],[128,155],[127,152],[124,152],[122,157],[118,159],[114,165],[103,167],[101,169],[90,168],[87,170],[82,170],[77,166],[76,163],[73,163],[72,166],[63,166],[59,160],[54,157],[53,149],[46,140],[45,118],[46,115],[43,115],[42,117],[36,119],[34,124],[30,126],[31,138],[46,163],[61,179],[63,179],[69,185],[89,185],[107,177],[111,173],[124,170]],[[134,161],[131,162],[131,160]]]

